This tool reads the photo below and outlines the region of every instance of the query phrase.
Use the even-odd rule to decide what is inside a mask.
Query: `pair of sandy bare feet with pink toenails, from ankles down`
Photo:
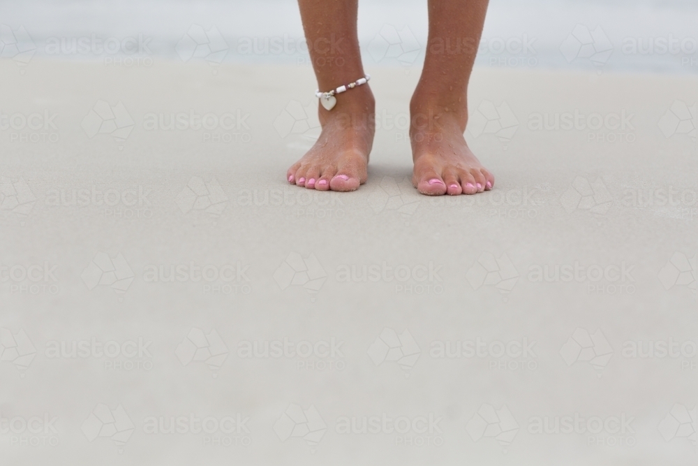
[[[429,196],[492,189],[494,177],[463,138],[468,115],[465,99],[435,99],[434,92],[438,89],[418,87],[410,103],[413,185]],[[440,105],[443,101],[450,108]],[[318,191],[355,191],[364,184],[375,131],[374,109],[368,85],[340,94],[332,110],[319,107],[322,133],[288,169],[288,182]]]

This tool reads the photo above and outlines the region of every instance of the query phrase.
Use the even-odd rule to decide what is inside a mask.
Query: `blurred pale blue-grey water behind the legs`
[[[421,66],[426,17],[426,0],[359,1],[359,42],[366,68]],[[186,61],[177,44],[195,24],[222,38],[225,51],[216,55],[218,62],[309,65],[295,0],[3,0],[0,24],[13,31],[24,27],[36,57]],[[570,38],[573,31],[576,38]],[[577,48],[584,44],[579,45],[579,36],[591,33],[595,41],[580,54]],[[47,47],[83,37],[115,38],[114,44],[140,37],[145,46],[135,54],[67,53]],[[491,0],[483,38],[477,64],[484,66],[695,74],[698,1]],[[522,43],[528,47],[519,47]],[[633,43],[641,50],[632,50]],[[594,48],[601,53],[592,59],[588,52]]]

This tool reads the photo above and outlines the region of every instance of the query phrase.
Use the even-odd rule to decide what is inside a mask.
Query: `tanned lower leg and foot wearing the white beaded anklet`
[[[357,38],[357,0],[299,0],[303,29],[318,78],[327,92],[364,77]],[[326,110],[318,105],[322,133],[288,169],[288,182],[309,189],[353,191],[366,182],[373,145],[373,94],[369,85],[336,96]]]

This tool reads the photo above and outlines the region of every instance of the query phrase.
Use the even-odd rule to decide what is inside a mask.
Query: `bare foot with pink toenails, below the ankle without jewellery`
[[[475,194],[494,186],[494,177],[470,152],[463,118],[453,109],[412,111],[410,140],[415,168],[412,184],[428,196]],[[463,112],[459,112],[463,115]],[[467,115],[467,111],[464,112]]]

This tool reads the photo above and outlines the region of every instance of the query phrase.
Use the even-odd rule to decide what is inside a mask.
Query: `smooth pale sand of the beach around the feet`
[[[695,109],[695,78],[477,68],[471,113],[488,113],[489,101],[505,126],[518,125],[502,138],[491,132],[495,122],[466,133],[496,187],[473,197],[426,198],[405,181],[414,69],[368,70],[382,127],[369,182],[350,194],[305,191],[284,180],[310,145],[306,123],[296,121],[304,119],[302,107],[316,104],[308,67],[124,68],[35,59],[24,68],[0,61],[0,70],[3,114],[56,114],[55,128],[0,130],[0,259],[8,266],[1,277],[15,267],[15,278],[0,282],[0,327],[7,329],[0,344],[8,351],[0,362],[0,417],[57,418],[47,433],[3,430],[7,464],[695,464],[698,150],[695,131],[692,138],[681,132],[695,116],[676,124],[664,117],[669,108],[681,113],[681,103]],[[124,105],[133,122],[125,140],[108,133],[89,138],[98,129],[89,119],[81,127],[98,101]],[[240,115],[239,128],[219,127],[209,136],[144,129],[149,113],[190,110]],[[532,114],[575,110],[632,116],[625,129],[592,136],[588,129],[529,128]],[[15,126],[22,121],[16,118]],[[471,122],[483,118],[473,115]],[[128,117],[119,122],[131,124]],[[316,126],[316,118],[307,124]],[[199,179],[216,204],[208,210],[198,208],[206,207],[205,197],[193,204]],[[93,202],[89,194],[82,205],[70,205],[80,189],[124,197],[105,207],[100,195]],[[140,201],[131,196],[139,189]],[[674,205],[657,196],[665,191],[674,193]],[[638,193],[655,196],[633,201]],[[110,286],[110,263],[99,253],[113,263],[122,255],[117,272],[124,281]],[[283,265],[297,257],[291,253],[310,265],[306,275],[304,263],[297,265],[295,282]],[[103,284],[96,284],[93,260],[105,269]],[[241,273],[232,282],[148,281],[153,266],[192,261],[211,273]],[[47,281],[20,277],[45,263],[55,266],[55,279],[43,270],[39,277]],[[415,276],[342,280],[346,266],[360,275],[364,265],[383,263]],[[536,265],[552,271],[575,263],[592,275],[607,270],[607,277],[535,282],[530,275]],[[616,266],[625,268],[622,279]],[[47,286],[30,288],[36,284]],[[210,365],[206,350],[194,357],[195,345],[186,341],[196,340],[193,328],[215,331],[219,338],[212,334],[199,345],[227,357]],[[33,359],[8,349],[22,340],[20,330],[31,343],[17,354],[35,351]],[[393,330],[402,344],[392,342]],[[380,335],[398,349],[386,355]],[[151,344],[135,356],[49,357],[55,342],[93,338]],[[243,342],[284,338],[313,344],[334,338],[341,347],[327,356],[320,345],[306,358],[239,354]],[[647,347],[669,338],[692,343],[677,357],[623,354],[628,341]],[[498,344],[482,357],[432,352],[433,342],[477,339],[535,344],[526,356],[497,357]],[[120,418],[113,432],[100,428],[91,418],[100,404],[112,411],[121,405],[131,421]],[[304,439],[302,425],[291,430],[282,414],[292,404],[308,411],[311,430],[326,428],[322,437]],[[498,418],[487,416],[488,406]],[[531,432],[536,418],[554,423],[575,413],[585,427],[593,416],[611,418],[609,428],[591,435]],[[169,423],[190,414],[249,420],[240,432],[146,432],[152,416]],[[426,433],[338,432],[343,416],[384,414],[441,420]],[[614,417],[629,428],[616,431]],[[500,430],[507,432],[497,439]]]

